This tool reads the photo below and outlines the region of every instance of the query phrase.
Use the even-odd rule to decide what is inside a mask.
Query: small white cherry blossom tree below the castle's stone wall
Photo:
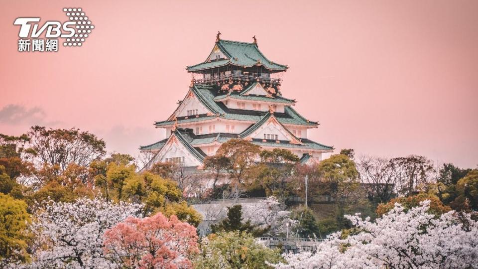
[[[283,210],[277,198],[270,196],[257,203],[243,204],[242,217],[252,225],[265,229],[267,235],[279,236],[287,233],[287,229],[296,226],[296,221],[290,219],[290,212]]]

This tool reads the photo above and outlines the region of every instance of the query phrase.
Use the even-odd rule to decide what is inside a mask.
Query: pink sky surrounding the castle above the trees
[[[16,17],[96,26],[78,48],[17,52]],[[358,154],[478,164],[478,1],[2,1],[0,133],[89,130],[138,153],[220,30],[288,64],[282,93],[319,121],[310,138]]]

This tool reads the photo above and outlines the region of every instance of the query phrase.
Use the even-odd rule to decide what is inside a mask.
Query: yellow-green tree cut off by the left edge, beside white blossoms
[[[27,205],[22,200],[0,193],[0,261],[26,261],[30,223]]]

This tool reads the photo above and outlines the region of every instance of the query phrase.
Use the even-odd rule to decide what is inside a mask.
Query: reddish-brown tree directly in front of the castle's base
[[[239,198],[243,184],[251,179],[252,167],[259,153],[258,145],[241,139],[231,139],[223,143],[216,152],[216,156],[226,157],[231,163],[228,172],[236,199]]]

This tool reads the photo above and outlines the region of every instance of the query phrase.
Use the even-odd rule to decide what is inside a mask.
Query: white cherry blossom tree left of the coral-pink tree
[[[141,205],[81,198],[73,203],[50,202],[35,214],[32,263],[25,268],[112,268],[103,254],[103,234]],[[114,267],[114,266],[113,266]]]

